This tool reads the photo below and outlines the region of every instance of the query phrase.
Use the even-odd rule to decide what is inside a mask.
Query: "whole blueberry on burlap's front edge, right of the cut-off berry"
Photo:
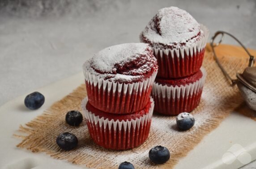
[[[151,148],[149,159],[155,164],[163,164],[170,159],[170,152],[166,147],[161,145]]]

